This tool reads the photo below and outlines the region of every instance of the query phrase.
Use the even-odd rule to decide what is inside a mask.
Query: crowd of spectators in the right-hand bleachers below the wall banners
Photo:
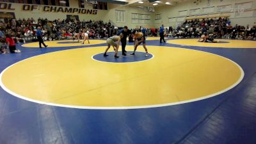
[[[174,38],[199,38],[202,34],[212,34],[214,38],[256,40],[256,26],[232,26],[228,18],[186,20],[176,29],[168,29]]]

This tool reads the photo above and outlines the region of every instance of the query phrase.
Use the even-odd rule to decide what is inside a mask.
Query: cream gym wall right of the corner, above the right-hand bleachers
[[[192,16],[214,16],[230,15],[233,25],[239,24],[246,26],[256,25],[256,1],[255,0],[183,0],[174,6],[166,5],[156,7],[154,16],[160,15],[161,19],[154,20],[154,24],[159,27],[175,26],[184,22],[186,17]],[[196,2],[196,3],[194,3]]]

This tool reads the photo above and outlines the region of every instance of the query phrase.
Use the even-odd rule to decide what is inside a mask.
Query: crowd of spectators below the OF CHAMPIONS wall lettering
[[[71,39],[74,33],[86,32],[90,38],[108,38],[116,33],[117,29],[111,22],[80,21],[68,19],[3,19],[0,20],[0,52],[6,52],[6,36],[10,35],[16,43],[26,40],[36,41],[36,29],[42,28],[44,40]]]

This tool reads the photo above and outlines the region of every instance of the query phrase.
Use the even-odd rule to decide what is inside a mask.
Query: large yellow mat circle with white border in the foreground
[[[216,54],[147,47],[154,58],[135,63],[92,59],[106,47],[42,54],[6,68],[1,86],[16,97],[53,106],[151,108],[213,97],[236,86],[244,76],[234,61]],[[127,51],[132,50],[127,46]]]

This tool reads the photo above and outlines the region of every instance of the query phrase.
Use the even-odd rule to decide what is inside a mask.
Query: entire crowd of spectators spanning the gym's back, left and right
[[[6,35],[15,37],[15,42],[36,40],[36,28],[42,28],[44,40],[71,39],[74,33],[86,32],[90,38],[108,38],[118,33],[111,22],[102,20],[80,21],[68,19],[4,19],[0,20],[0,52],[5,53]],[[141,31],[142,28],[131,29]],[[214,38],[238,40],[256,40],[256,26],[232,26],[228,18],[186,20],[177,28],[165,29],[165,36],[172,38],[200,38],[204,33],[214,35]],[[158,36],[159,28],[146,29],[146,36]],[[131,36],[130,36],[131,37]],[[132,38],[130,38],[132,39]],[[129,40],[130,41],[130,40]]]

